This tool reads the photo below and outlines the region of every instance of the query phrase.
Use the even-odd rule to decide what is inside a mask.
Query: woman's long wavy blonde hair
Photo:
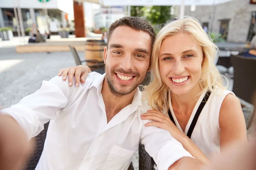
[[[224,87],[222,76],[214,64],[217,57],[216,51],[218,47],[212,42],[208,34],[203,30],[198,20],[193,17],[184,17],[176,19],[166,24],[157,34],[151,56],[151,82],[144,87],[143,97],[148,99],[148,104],[152,109],[158,111],[166,111],[169,108],[168,91],[169,87],[163,82],[159,70],[159,52],[161,43],[164,39],[179,33],[188,34],[192,40],[200,45],[203,50],[202,74],[199,79],[199,85],[203,92],[213,91],[218,87],[222,90]]]

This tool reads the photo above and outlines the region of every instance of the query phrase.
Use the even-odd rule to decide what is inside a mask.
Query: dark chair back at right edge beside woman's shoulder
[[[252,94],[256,89],[256,58],[230,55],[234,67],[233,92],[236,96],[252,103]]]

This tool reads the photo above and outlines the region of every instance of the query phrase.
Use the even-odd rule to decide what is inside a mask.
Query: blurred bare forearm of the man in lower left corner
[[[22,169],[34,146],[15,119],[0,114],[0,170]]]

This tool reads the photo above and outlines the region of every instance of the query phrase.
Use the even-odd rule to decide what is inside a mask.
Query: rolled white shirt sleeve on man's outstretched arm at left
[[[1,110],[2,121],[11,116],[22,128],[28,139],[37,136],[44,124],[55,119],[58,112],[66,107],[68,102],[67,82],[60,77],[43,81],[41,88],[30,94],[16,105]]]

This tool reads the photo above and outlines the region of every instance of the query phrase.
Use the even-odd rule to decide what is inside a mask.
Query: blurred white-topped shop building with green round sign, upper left
[[[20,8],[26,32],[33,24],[41,33],[57,32],[67,27],[67,16],[73,14],[73,0],[65,0],[65,3],[63,0],[0,0],[0,27],[8,26],[17,31],[16,19],[19,18],[15,18],[18,17],[15,7]]]

